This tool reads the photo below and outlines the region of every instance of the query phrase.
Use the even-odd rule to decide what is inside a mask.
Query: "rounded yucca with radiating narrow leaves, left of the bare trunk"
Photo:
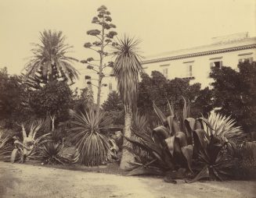
[[[101,131],[110,126],[111,118],[105,118],[103,111],[97,113],[92,108],[85,113],[70,110],[70,115],[73,117],[70,138],[78,149],[81,164],[98,166],[106,162],[110,143]]]

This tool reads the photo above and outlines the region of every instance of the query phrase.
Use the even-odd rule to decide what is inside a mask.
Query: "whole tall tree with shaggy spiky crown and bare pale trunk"
[[[114,76],[117,79],[117,89],[124,104],[124,136],[132,136],[132,112],[135,112],[137,104],[137,90],[139,84],[139,72],[142,71],[142,65],[139,62],[138,55],[139,40],[124,36],[118,40],[116,51],[117,55],[114,62]],[[124,139],[123,154],[121,157],[120,168],[130,168],[129,162],[134,161],[133,154],[129,151],[132,144]]]

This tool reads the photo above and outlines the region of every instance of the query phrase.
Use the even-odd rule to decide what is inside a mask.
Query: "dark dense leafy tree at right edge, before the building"
[[[256,63],[243,62],[238,68],[239,72],[226,66],[211,70],[214,105],[249,132],[256,130]]]

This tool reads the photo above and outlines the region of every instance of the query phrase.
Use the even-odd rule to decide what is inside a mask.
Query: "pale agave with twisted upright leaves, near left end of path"
[[[23,141],[19,140],[17,136],[14,136],[13,139],[15,148],[11,154],[11,162],[14,163],[16,158],[20,157],[20,162],[23,163],[26,161],[27,157],[33,158],[34,150],[38,147],[41,143],[44,143],[46,140],[43,140],[46,136],[49,136],[49,133],[45,135],[36,137],[38,130],[41,128],[41,123],[32,123],[30,127],[30,132],[26,133],[26,129],[24,124],[21,124],[22,128],[22,136]]]

